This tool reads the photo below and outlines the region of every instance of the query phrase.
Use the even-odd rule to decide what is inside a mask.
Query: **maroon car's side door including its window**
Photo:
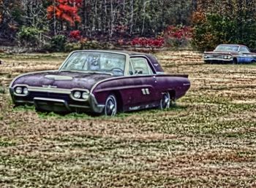
[[[152,107],[155,101],[154,73],[145,57],[131,57],[129,75],[132,76],[131,106]]]

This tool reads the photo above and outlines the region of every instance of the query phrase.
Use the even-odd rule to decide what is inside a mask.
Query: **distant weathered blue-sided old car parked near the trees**
[[[204,52],[205,63],[255,63],[256,53],[240,44],[219,44],[213,52]]]

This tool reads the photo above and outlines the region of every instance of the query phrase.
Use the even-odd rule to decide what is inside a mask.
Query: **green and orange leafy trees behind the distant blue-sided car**
[[[197,49],[236,43],[256,50],[255,0],[208,0],[193,13],[192,25]]]

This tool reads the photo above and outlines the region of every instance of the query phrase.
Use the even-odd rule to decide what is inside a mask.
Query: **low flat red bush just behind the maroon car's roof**
[[[145,37],[138,37],[132,40],[132,46],[140,46],[140,47],[162,47],[165,41],[164,38],[159,37],[157,39],[148,39]]]

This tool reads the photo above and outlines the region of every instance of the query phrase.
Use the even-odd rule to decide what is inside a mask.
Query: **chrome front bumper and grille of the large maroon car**
[[[34,105],[40,111],[102,113],[105,108],[105,105],[97,103],[93,94],[89,95],[87,101],[75,101],[64,93],[31,92],[26,96],[18,96],[12,87],[10,94],[15,105]]]

